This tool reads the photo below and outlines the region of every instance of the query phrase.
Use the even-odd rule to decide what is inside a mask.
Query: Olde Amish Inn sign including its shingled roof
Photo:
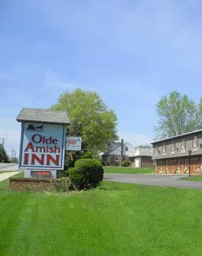
[[[47,109],[22,109],[19,168],[61,170],[64,168],[66,112]]]

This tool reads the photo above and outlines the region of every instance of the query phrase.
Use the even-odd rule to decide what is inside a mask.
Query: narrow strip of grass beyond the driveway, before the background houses
[[[106,173],[153,173],[154,168],[104,167]]]

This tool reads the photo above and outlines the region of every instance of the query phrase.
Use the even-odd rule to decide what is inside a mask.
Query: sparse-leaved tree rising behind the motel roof
[[[164,95],[156,105],[158,125],[155,139],[172,137],[202,128],[202,99],[197,105],[187,95],[177,91]]]

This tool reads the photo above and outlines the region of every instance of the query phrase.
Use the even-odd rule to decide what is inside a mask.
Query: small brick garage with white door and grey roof
[[[152,148],[137,147],[136,152],[130,155],[129,159],[133,167],[151,167],[153,166]]]

